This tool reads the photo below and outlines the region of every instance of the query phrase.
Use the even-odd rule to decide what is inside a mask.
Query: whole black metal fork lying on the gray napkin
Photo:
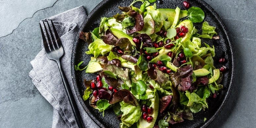
[[[71,105],[71,108],[72,108],[72,111],[74,113],[74,116],[75,116],[75,119],[76,119],[76,122],[77,122],[77,125],[79,128],[83,128],[83,123],[82,123],[82,119],[81,119],[81,115],[80,115],[80,112],[77,108],[77,104],[76,104],[76,101],[75,101],[75,98],[72,94],[72,91],[70,89],[70,86],[68,84],[68,81],[67,81],[67,78],[64,74],[64,71],[62,69],[62,66],[60,64],[60,59],[62,58],[63,54],[64,54],[64,48],[62,47],[62,43],[59,39],[59,36],[58,36],[58,33],[55,29],[55,26],[53,24],[53,21],[51,20],[51,23],[52,23],[52,26],[53,26],[53,31],[54,31],[54,35],[52,33],[52,30],[51,30],[51,27],[50,27],[50,24],[49,22],[47,21],[47,25],[48,25],[48,30],[47,30],[47,27],[45,25],[45,23],[43,22],[44,24],[44,28],[45,28],[45,34],[44,34],[44,31],[43,31],[43,28],[40,24],[40,28],[41,28],[41,33],[42,33],[42,38],[43,38],[43,43],[44,43],[44,47],[45,47],[45,51],[46,51],[46,54],[47,54],[47,57],[51,60],[55,60],[58,64],[58,67],[59,67],[59,71],[60,71],[60,75],[61,75],[61,78],[63,80],[63,84],[64,84],[64,87],[65,87],[65,90],[67,92],[67,96],[68,96],[68,100],[70,102],[70,105]],[[50,33],[50,35],[49,35]],[[50,38],[51,36],[51,38]],[[46,40],[46,37],[47,37],[47,40]],[[48,45],[48,43],[49,45]]]

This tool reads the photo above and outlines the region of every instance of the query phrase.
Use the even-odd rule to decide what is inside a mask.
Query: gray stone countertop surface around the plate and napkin
[[[256,126],[256,1],[204,0],[227,26],[236,52],[236,80],[218,117],[208,126]],[[41,50],[39,21],[101,0],[0,1],[0,127],[51,127],[53,108],[28,76]]]

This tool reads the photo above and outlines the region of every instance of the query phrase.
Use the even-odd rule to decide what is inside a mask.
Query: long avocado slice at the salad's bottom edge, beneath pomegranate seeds
[[[151,114],[148,114],[148,116],[152,116],[153,120],[151,122],[147,122],[147,120],[144,120],[142,117],[140,117],[139,121],[137,122],[137,128],[153,128],[154,124],[157,120],[158,115],[158,109],[159,109],[159,97],[157,94],[157,91],[155,93],[155,103],[152,104],[153,112]]]

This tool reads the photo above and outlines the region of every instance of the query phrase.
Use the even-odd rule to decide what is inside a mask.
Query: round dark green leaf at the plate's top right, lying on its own
[[[188,9],[188,19],[194,23],[202,22],[204,19],[204,12],[201,10],[201,8],[190,7]]]

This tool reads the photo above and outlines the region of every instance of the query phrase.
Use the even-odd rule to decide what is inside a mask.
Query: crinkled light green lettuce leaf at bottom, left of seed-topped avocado
[[[124,103],[124,101],[121,101],[120,105],[121,105],[121,111],[123,112],[121,121],[128,127],[131,127],[133,123],[139,120],[142,114],[140,110],[140,106],[135,107],[127,103]]]

